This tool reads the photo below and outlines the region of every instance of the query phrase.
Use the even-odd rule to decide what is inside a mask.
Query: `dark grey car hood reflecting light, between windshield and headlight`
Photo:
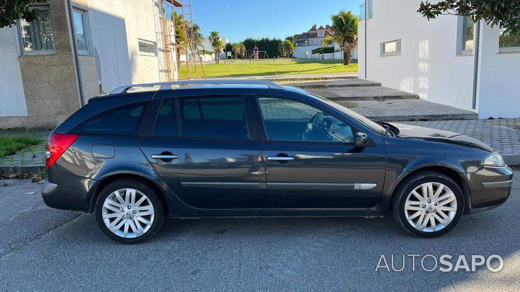
[[[397,137],[400,138],[414,138],[426,141],[443,142],[466,147],[479,148],[490,152],[494,151],[493,148],[491,148],[489,145],[482,143],[473,137],[459,133],[411,126],[409,124],[392,123],[392,125],[399,129],[399,135]]]

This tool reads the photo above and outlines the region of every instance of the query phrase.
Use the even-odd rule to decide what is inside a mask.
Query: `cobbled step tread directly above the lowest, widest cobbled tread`
[[[419,99],[417,94],[382,86],[306,88],[305,90],[331,100]]]

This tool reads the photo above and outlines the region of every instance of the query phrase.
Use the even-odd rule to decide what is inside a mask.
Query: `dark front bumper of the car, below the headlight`
[[[486,211],[508,200],[513,185],[513,171],[503,168],[480,166],[474,173],[464,174],[469,182],[470,213]]]

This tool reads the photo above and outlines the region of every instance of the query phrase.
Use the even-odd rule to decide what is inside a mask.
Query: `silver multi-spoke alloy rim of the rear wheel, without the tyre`
[[[112,233],[123,238],[145,234],[153,224],[153,205],[136,189],[119,189],[107,197],[101,211],[103,222]]]

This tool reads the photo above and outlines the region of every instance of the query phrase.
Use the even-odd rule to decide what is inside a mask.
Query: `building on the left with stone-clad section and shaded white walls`
[[[177,79],[162,1],[51,0],[0,29],[0,128],[55,127],[96,94]]]

